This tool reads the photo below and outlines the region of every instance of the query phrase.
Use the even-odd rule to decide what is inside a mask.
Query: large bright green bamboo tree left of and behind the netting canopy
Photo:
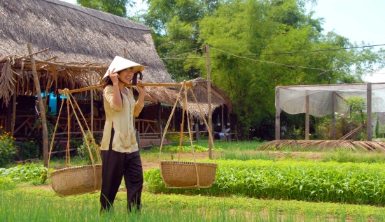
[[[371,49],[322,51],[358,45],[333,32],[322,34],[322,20],[305,14],[307,2],[225,1],[200,21],[202,45],[211,46],[211,77],[235,103],[243,139],[255,136],[250,128],[264,119],[274,120],[275,86],[362,82],[363,73],[384,63],[384,52]],[[197,59],[184,64],[205,71]]]

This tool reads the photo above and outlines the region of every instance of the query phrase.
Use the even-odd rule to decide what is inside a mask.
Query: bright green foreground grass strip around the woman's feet
[[[0,191],[0,221],[383,221],[383,208],[295,200],[258,200],[144,192],[140,214],[127,214],[125,193],[115,212],[99,214],[99,193],[59,198],[53,191]]]

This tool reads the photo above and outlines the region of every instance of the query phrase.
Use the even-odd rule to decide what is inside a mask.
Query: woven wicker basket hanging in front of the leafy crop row
[[[160,172],[167,188],[207,188],[215,180],[216,163],[196,163],[186,161],[160,161]]]

